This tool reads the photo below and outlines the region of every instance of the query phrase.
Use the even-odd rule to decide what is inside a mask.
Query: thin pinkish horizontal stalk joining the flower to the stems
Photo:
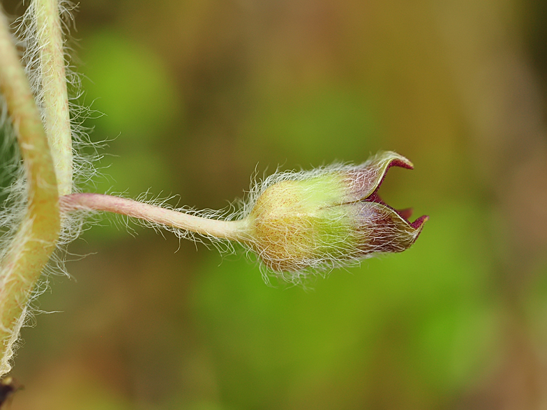
[[[224,221],[202,218],[112,195],[66,195],[59,199],[59,206],[63,212],[79,209],[114,212],[168,227],[192,231],[204,236],[239,242],[250,241],[250,236],[247,234],[246,220]]]

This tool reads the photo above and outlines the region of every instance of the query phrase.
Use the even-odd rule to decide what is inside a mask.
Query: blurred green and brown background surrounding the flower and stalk
[[[217,209],[255,172],[385,149],[415,169],[382,197],[430,220],[304,288],[104,218],[22,333],[11,409],[547,409],[546,5],[83,1],[109,140],[87,190]]]

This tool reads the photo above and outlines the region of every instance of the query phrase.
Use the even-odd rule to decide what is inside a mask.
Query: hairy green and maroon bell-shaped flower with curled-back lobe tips
[[[390,167],[412,169],[394,152],[361,165],[330,165],[274,174],[255,192],[248,213],[248,245],[271,271],[297,279],[306,271],[345,266],[380,253],[403,252],[427,216],[396,210],[377,191]]]

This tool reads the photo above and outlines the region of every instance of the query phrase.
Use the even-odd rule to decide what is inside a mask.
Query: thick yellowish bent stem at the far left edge
[[[57,180],[47,137],[1,10],[0,91],[17,134],[27,179],[27,211],[0,261],[1,377],[10,370],[27,303],[55,248],[60,225]]]

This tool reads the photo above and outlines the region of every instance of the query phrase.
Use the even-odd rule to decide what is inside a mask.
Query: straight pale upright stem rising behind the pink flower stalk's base
[[[72,135],[64,59],[63,31],[57,0],[35,0],[36,41],[43,93],[45,132],[57,176],[59,195],[72,192]]]

